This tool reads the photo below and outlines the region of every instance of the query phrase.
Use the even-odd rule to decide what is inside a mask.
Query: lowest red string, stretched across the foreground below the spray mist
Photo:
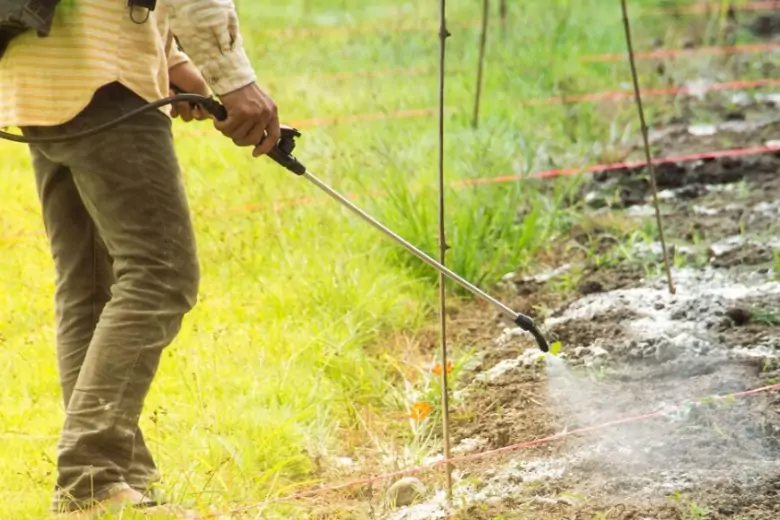
[[[778,390],[778,389],[780,389],[780,383],[775,383],[773,385],[763,386],[763,387],[755,388],[755,389],[752,389],[752,390],[744,390],[744,391],[736,392],[736,393],[733,393],[733,394],[726,394],[726,395],[721,395],[721,396],[709,396],[709,397],[698,399],[696,401],[701,402],[701,401],[710,400],[710,399],[718,399],[718,398],[723,399],[723,398],[728,398],[728,397],[733,397],[733,398],[737,398],[737,397],[750,397],[750,396],[754,396],[754,395],[757,395],[757,394],[760,394],[760,393],[769,392],[769,391]],[[548,437],[542,437],[542,438],[534,439],[534,440],[530,440],[530,441],[519,442],[517,444],[512,444],[510,446],[504,446],[502,448],[497,448],[497,449],[494,449],[494,450],[487,450],[487,451],[483,451],[483,452],[480,452],[480,453],[473,453],[473,454],[470,454],[470,455],[463,455],[463,456],[460,456],[460,457],[452,457],[450,459],[443,459],[443,460],[436,461],[436,462],[434,462],[432,464],[429,464],[427,466],[416,466],[416,467],[412,467],[412,468],[409,468],[409,469],[406,469],[406,470],[394,471],[394,472],[390,472],[390,473],[382,473],[382,474],[379,474],[379,475],[374,475],[372,477],[358,479],[358,480],[354,480],[354,481],[351,481],[351,482],[345,482],[345,483],[337,484],[337,485],[333,485],[333,486],[323,486],[323,487],[319,487],[319,488],[315,488],[315,489],[310,489],[310,490],[307,490],[307,491],[301,491],[301,492],[293,493],[293,494],[290,494],[290,495],[287,495],[285,497],[281,497],[281,498],[278,498],[278,499],[267,500],[267,501],[262,502],[262,503],[251,504],[251,505],[242,506],[242,507],[239,507],[239,508],[236,508],[236,509],[231,509],[229,511],[229,514],[243,513],[243,512],[249,511],[251,509],[255,509],[255,508],[259,508],[259,507],[263,507],[263,506],[267,506],[267,505],[275,504],[275,503],[279,503],[279,502],[288,502],[288,501],[291,501],[291,500],[299,500],[299,499],[302,499],[302,498],[309,498],[309,497],[313,497],[313,496],[324,495],[326,493],[331,493],[331,492],[334,492],[334,491],[340,491],[342,489],[352,488],[352,487],[356,487],[356,486],[365,486],[367,484],[373,484],[373,483],[380,482],[380,481],[383,481],[383,480],[389,480],[389,479],[394,479],[394,478],[398,478],[398,477],[403,477],[403,476],[408,476],[408,475],[415,475],[415,474],[419,474],[419,473],[429,472],[429,471],[432,471],[433,469],[435,469],[435,468],[437,468],[439,466],[442,466],[444,464],[455,464],[455,463],[458,463],[458,462],[466,462],[466,461],[471,461],[471,460],[490,458],[490,457],[493,457],[495,455],[499,455],[499,454],[502,454],[502,453],[517,451],[517,450],[522,449],[522,448],[531,448],[531,447],[535,447],[535,446],[541,446],[541,445],[544,445],[544,444],[549,444],[549,443],[558,441],[560,439],[564,439],[566,437],[572,437],[572,436],[575,436],[575,435],[581,435],[583,433],[590,433],[590,432],[594,432],[594,431],[598,431],[598,430],[604,430],[606,428],[610,428],[610,427],[613,427],[613,426],[619,426],[619,425],[623,425],[623,424],[636,423],[636,422],[643,422],[643,421],[647,421],[647,420],[650,420],[650,419],[661,417],[661,416],[667,415],[667,414],[669,414],[669,413],[671,413],[673,411],[679,410],[679,409],[683,408],[686,404],[688,404],[688,402],[679,404],[679,405],[677,405],[675,407],[672,407],[671,409],[665,409],[663,411],[647,413],[647,414],[643,414],[643,415],[637,415],[637,416],[634,416],[634,417],[627,417],[625,419],[618,419],[618,420],[615,420],[615,421],[609,421],[609,422],[606,422],[606,423],[603,423],[603,424],[599,424],[599,425],[595,425],[595,426],[588,426],[588,427],[585,427],[585,428],[578,428],[576,430],[570,430],[570,431],[563,432],[563,433],[557,433],[555,435],[550,435]],[[215,518],[215,517],[219,517],[219,516],[221,516],[221,515],[218,514],[218,513],[214,513],[212,515],[206,516],[206,518]]]

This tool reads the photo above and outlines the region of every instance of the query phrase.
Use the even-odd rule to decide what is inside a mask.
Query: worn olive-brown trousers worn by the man
[[[111,84],[68,123],[22,131],[67,135],[143,104]],[[138,420],[162,351],[196,303],[200,276],[171,124],[152,110],[93,137],[30,146],[56,271],[66,410],[57,511],[159,479]]]

